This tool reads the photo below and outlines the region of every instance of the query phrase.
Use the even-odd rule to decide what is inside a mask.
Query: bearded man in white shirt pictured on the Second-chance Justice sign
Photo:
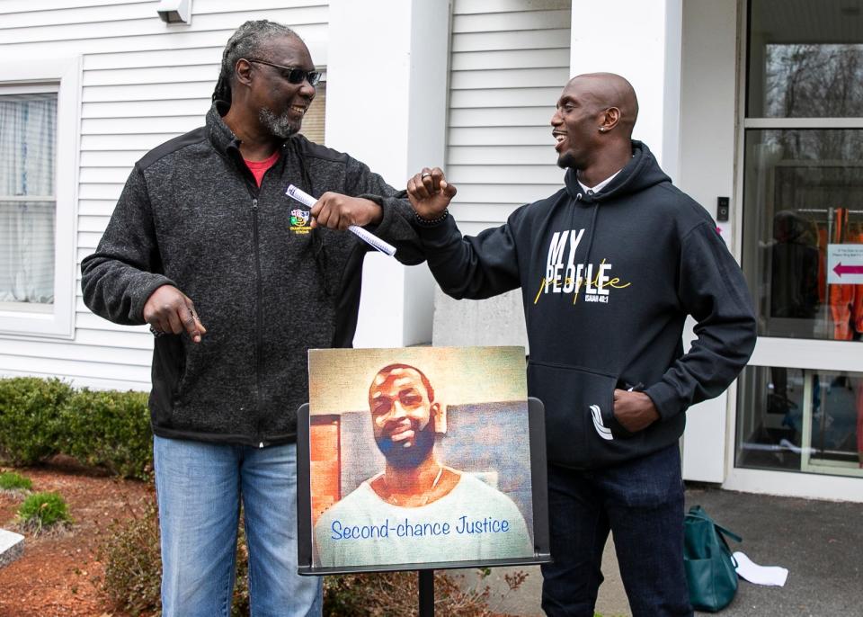
[[[435,456],[444,411],[423,371],[385,366],[369,387],[369,409],[386,467],[318,519],[316,566],[533,557],[518,506]]]

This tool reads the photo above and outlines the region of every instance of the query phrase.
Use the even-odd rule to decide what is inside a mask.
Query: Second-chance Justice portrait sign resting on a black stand
[[[300,574],[550,560],[523,347],[310,350],[308,372]]]

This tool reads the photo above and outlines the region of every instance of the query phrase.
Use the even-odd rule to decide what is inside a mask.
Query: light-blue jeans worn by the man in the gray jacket
[[[164,617],[230,614],[241,498],[253,617],[321,613],[321,579],[297,574],[296,452],[154,439]]]

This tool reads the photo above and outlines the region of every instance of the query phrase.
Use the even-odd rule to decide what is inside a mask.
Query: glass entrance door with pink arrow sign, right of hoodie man
[[[735,466],[863,477],[863,15],[751,0]]]

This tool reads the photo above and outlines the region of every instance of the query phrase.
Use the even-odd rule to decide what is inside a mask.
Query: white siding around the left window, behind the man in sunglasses
[[[4,58],[80,57],[76,151],[74,335],[0,335],[0,375],[58,376],[96,388],[149,389],[152,335],[96,317],[81,298],[93,253],[132,165],[203,123],[228,37],[246,20],[289,25],[326,65],[327,0],[195,0],[191,25],[166,25],[156,2],[4,0]],[[78,110],[76,110],[77,112]],[[71,276],[71,275],[70,275]]]

